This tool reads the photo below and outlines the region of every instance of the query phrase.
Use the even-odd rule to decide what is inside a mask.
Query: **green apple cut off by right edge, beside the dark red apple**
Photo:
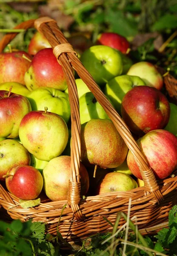
[[[170,119],[166,128],[167,131],[170,131],[172,134],[177,136],[177,105],[174,105],[170,102]]]

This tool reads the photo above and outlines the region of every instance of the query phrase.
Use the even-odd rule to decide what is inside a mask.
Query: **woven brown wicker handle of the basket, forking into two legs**
[[[69,44],[63,33],[60,31],[59,27],[55,20],[52,20],[49,17],[41,17],[37,20],[28,20],[26,22],[21,23],[15,28],[31,28],[35,26],[36,29],[43,33],[46,39],[51,44],[51,47],[54,49],[60,49],[59,45],[61,44]],[[0,41],[0,51],[3,51],[4,47],[15,37],[17,33],[9,33],[3,37]],[[62,46],[63,47],[63,46]],[[57,52],[57,53],[56,53]],[[137,162],[137,165],[140,169],[146,193],[153,193],[154,199],[159,204],[160,201],[163,201],[163,195],[160,192],[159,186],[157,184],[157,180],[154,176],[153,171],[148,166],[148,162],[140,148],[138,147],[136,141],[131,135],[127,125],[121,119],[117,111],[113,108],[111,103],[108,101],[104,93],[97,86],[96,82],[85,69],[83,64],[77,58],[74,50],[70,47],[68,49],[61,50],[58,55],[58,51],[54,50],[56,54],[56,58],[58,62],[63,68],[63,72],[66,77],[66,81],[68,84],[69,91],[69,102],[71,105],[71,174],[70,174],[70,186],[68,193],[68,202],[71,205],[74,216],[77,219],[82,219],[83,214],[79,207],[80,202],[80,113],[79,113],[79,98],[77,94],[77,86],[75,83],[74,75],[72,72],[72,68],[76,70],[77,74],[80,78],[86,83],[89,90],[94,94],[97,101],[102,105],[103,109],[108,114],[109,118],[114,123],[117,131],[120,133],[121,137],[125,141],[128,148],[131,150],[134,158]]]

